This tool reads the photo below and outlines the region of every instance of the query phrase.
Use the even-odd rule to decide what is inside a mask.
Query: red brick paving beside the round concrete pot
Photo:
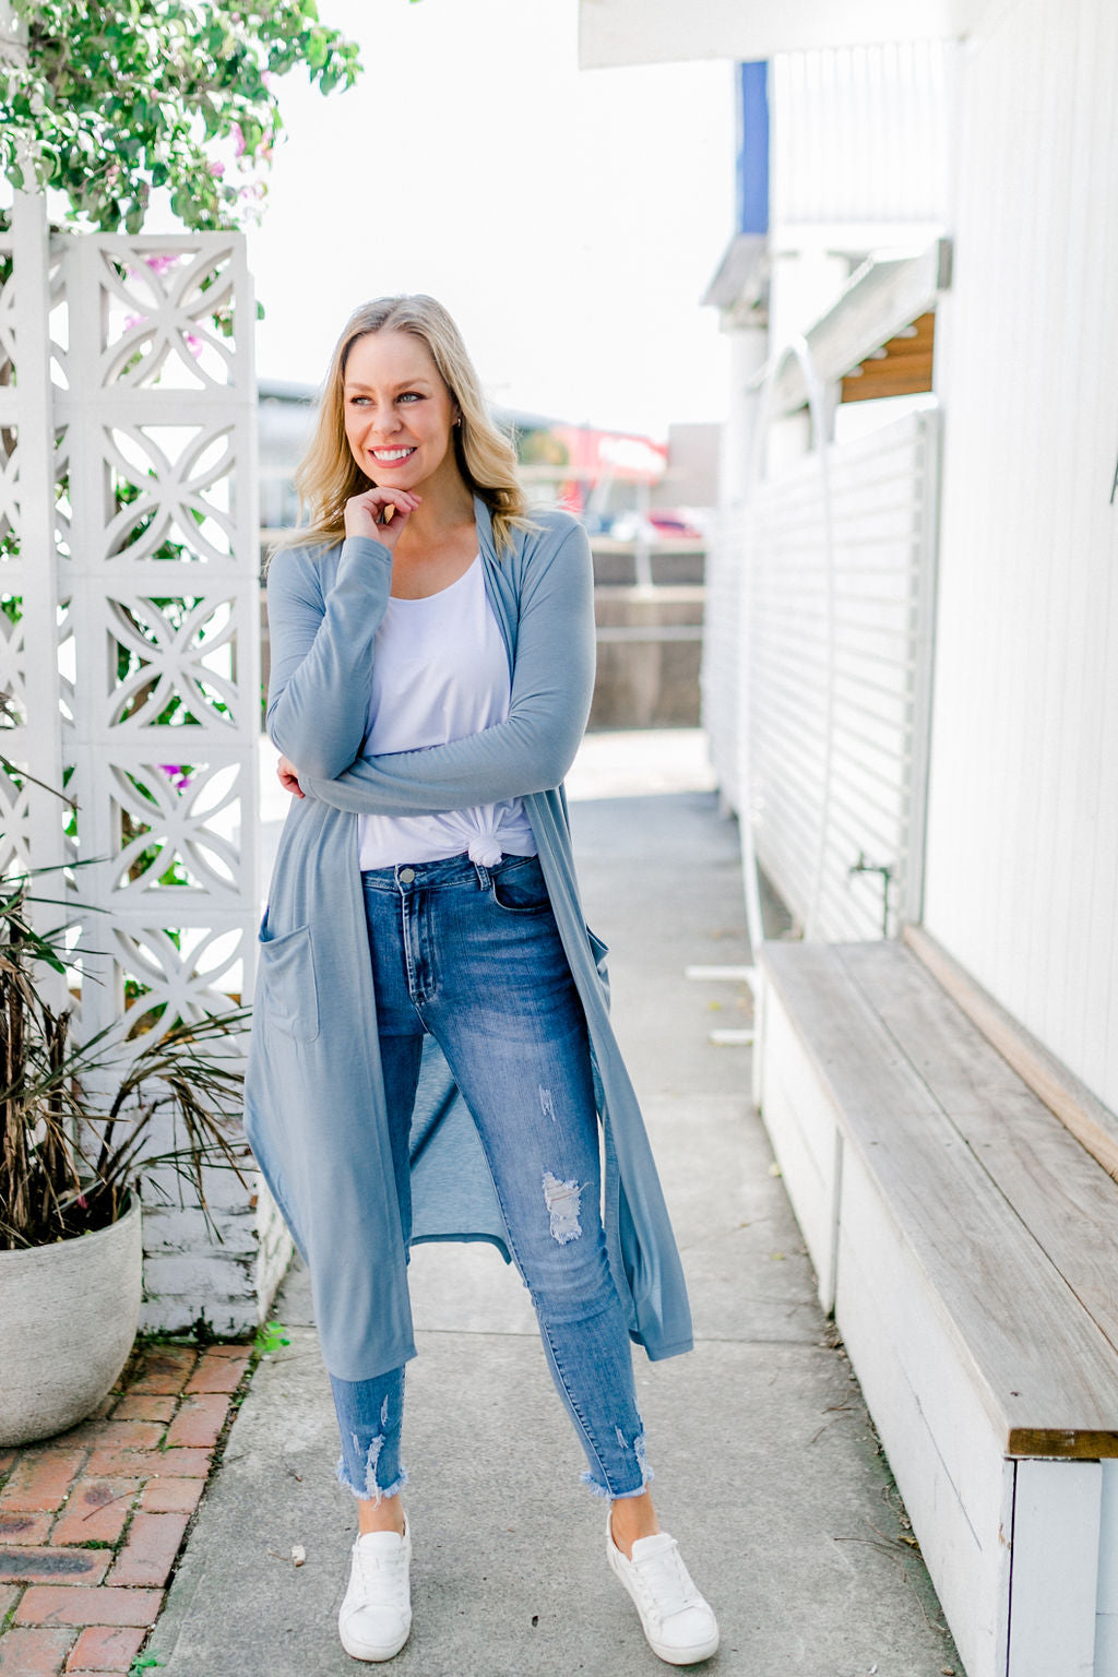
[[[0,1677],[142,1669],[250,1362],[246,1345],[137,1345],[96,1415],[0,1449]]]

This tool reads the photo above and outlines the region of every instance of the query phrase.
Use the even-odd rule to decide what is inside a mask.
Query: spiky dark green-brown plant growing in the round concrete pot
[[[121,1030],[74,1045],[70,1010],[55,1011],[40,974],[65,974],[67,927],[39,932],[30,879],[0,882],[0,1248],[42,1246],[114,1223],[129,1189],[174,1171],[210,1226],[204,1171],[245,1181],[235,1149],[246,1008],[163,1020],[121,1058]],[[42,899],[39,899],[42,901]],[[65,959],[64,959],[65,956]],[[173,1145],[153,1150],[171,1114]]]

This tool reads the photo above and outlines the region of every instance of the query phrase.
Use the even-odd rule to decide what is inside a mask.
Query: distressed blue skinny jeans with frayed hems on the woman
[[[598,1496],[639,1496],[644,1456],[625,1313],[600,1218],[598,1120],[578,991],[535,857],[362,874],[392,1159],[411,1238],[409,1125],[424,1033],[473,1114],[558,1394]],[[404,1370],[330,1375],[339,1479],[394,1496]]]

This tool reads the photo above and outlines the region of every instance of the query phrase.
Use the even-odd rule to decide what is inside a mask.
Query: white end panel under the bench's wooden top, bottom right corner
[[[1101,1462],[1017,1461],[1007,1677],[1095,1669]]]

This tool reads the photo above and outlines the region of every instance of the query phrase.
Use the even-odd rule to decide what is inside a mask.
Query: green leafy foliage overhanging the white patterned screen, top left
[[[27,62],[0,65],[0,168],[54,186],[70,220],[142,226],[153,188],[188,228],[258,215],[282,121],[277,77],[327,94],[360,74],[313,0],[13,0]]]

